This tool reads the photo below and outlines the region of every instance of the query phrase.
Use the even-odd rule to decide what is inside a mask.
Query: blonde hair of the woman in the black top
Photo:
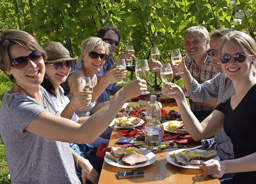
[[[219,46],[219,56],[222,55],[223,45],[227,41],[236,42],[241,47],[241,49],[242,49],[242,51],[244,52],[245,55],[248,55],[248,56],[256,55],[256,42],[255,42],[255,40],[252,37],[250,37],[250,35],[242,32],[242,31],[233,31],[231,33],[228,33],[224,37],[222,37],[222,40],[221,40],[220,46]],[[249,51],[250,54],[248,54],[247,51]],[[252,65],[252,74],[253,74],[253,76],[256,76],[255,59],[252,58],[252,61],[254,61],[254,64]]]

